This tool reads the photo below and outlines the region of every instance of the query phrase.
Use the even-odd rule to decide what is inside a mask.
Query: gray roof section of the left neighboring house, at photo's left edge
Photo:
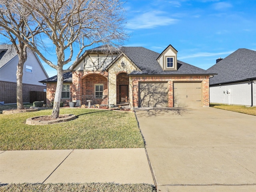
[[[2,52],[4,53],[4,55],[0,59],[0,68],[2,68],[5,64],[7,64],[10,60],[12,60],[17,55],[17,52],[15,48],[12,47],[12,45],[8,45],[8,44],[0,45],[0,50],[7,50],[5,53]]]

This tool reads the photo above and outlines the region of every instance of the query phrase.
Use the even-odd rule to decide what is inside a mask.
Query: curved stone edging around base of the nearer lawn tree
[[[37,117],[32,117],[32,118],[28,118],[26,120],[26,124],[28,125],[48,125],[48,124],[57,124],[57,123],[62,123],[62,122],[67,122],[67,121],[71,121],[76,119],[75,115],[72,114],[66,114],[68,115],[67,117],[64,118],[57,118],[54,120],[33,120],[33,118],[37,118]],[[66,116],[64,115],[64,116]],[[38,116],[40,117],[40,116]]]

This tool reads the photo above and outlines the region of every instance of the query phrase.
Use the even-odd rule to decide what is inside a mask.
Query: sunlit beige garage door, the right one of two
[[[174,82],[174,107],[202,106],[202,82]]]

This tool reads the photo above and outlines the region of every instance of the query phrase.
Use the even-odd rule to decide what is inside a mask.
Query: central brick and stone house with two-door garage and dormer
[[[161,54],[143,47],[86,50],[72,73],[64,76],[62,100],[131,107],[209,106],[213,74],[177,60],[177,52],[171,45]],[[47,85],[48,103],[54,100],[56,79],[40,81]]]

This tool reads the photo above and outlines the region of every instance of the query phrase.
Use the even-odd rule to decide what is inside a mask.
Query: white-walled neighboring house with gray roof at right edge
[[[256,51],[238,49],[208,69],[210,102],[256,106]]]

